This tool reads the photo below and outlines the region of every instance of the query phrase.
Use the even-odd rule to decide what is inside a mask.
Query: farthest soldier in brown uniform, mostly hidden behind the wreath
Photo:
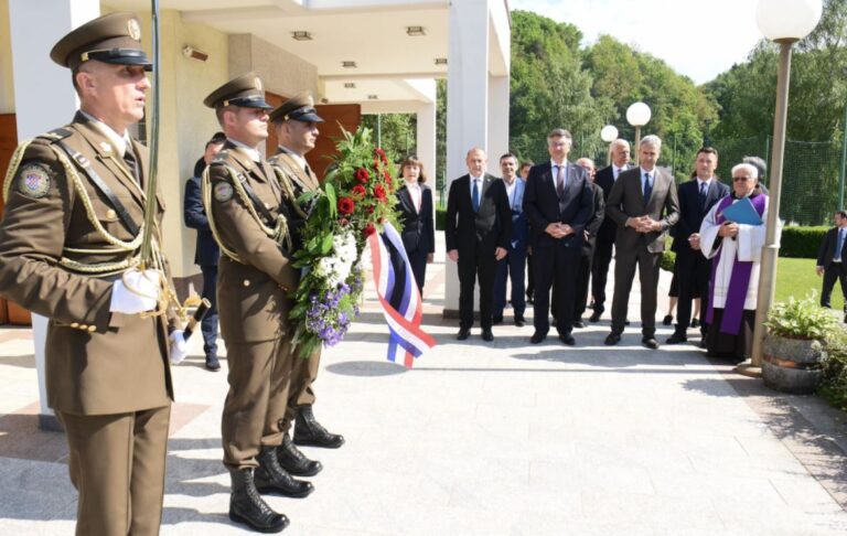
[[[271,111],[270,120],[275,125],[279,147],[269,163],[277,172],[282,186],[292,190],[296,197],[318,189],[318,176],[305,162],[305,153],[314,149],[319,133],[318,124],[323,122],[323,119],[314,109],[311,94],[305,92],[286,100]],[[307,213],[307,206],[294,207],[291,228],[296,239],[299,239],[297,232],[305,222]],[[294,350],[288,407],[280,425],[286,435],[282,447],[278,449],[280,463],[292,474],[310,475],[321,470],[320,462],[308,460],[293,443],[330,449],[344,444],[344,437],[326,431],[312,412],[315,400],[312,384],[318,377],[320,364],[320,349],[308,360],[301,358]],[[293,443],[288,435],[292,420],[296,420]]]

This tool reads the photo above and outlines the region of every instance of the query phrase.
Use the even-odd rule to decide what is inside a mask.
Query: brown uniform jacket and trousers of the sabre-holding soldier
[[[76,534],[156,535],[173,398],[168,330],[175,319],[109,312],[114,277],[81,269],[126,260],[133,251],[106,235],[122,242],[133,235],[66,160],[74,181],[54,152],[57,138],[86,157],[138,225],[143,221],[147,148],[131,143],[139,184],[109,139],[77,114],[64,132],[36,138],[24,150],[7,185],[0,294],[50,318],[47,403],[67,435],[71,480],[79,492]],[[161,222],[164,205],[157,197]]]

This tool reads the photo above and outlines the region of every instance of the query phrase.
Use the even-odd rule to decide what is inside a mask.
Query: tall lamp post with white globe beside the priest
[[[776,112],[773,116],[773,153],[771,178],[768,184],[768,227],[765,228],[762,265],[759,277],[759,296],[753,329],[753,349],[750,362],[736,367],[747,376],[760,376],[762,367],[762,344],[764,321],[776,290],[776,258],[780,243],[776,225],[780,217],[780,193],[782,191],[782,160],[785,152],[785,122],[789,109],[789,79],[791,77],[791,46],[814,30],[821,20],[821,0],[759,0],[755,20],[765,37],[780,44],[780,69],[776,76]],[[761,180],[761,178],[760,178]]]

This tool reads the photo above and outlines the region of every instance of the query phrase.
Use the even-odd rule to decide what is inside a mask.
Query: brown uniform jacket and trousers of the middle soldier
[[[243,181],[265,211],[245,201],[234,180]],[[298,279],[287,247],[262,229],[274,226],[264,214],[288,218],[289,210],[270,167],[254,162],[229,142],[208,167],[203,187],[210,204],[206,213],[224,254],[217,279],[221,334],[229,363],[221,425],[224,464],[230,470],[256,468],[261,446],[282,442],[279,416],[291,379],[286,335],[292,302],[286,293]]]

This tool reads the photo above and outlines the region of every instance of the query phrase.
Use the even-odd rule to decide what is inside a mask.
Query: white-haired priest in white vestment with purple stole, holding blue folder
[[[761,225],[741,224],[725,217],[723,211],[747,199]],[[697,246],[712,259],[709,307],[706,320],[706,350],[711,357],[743,361],[750,357],[759,293],[759,270],[768,221],[768,195],[759,186],[755,167],[732,168],[732,192],[720,200],[700,225]],[[694,244],[693,244],[694,246]]]

